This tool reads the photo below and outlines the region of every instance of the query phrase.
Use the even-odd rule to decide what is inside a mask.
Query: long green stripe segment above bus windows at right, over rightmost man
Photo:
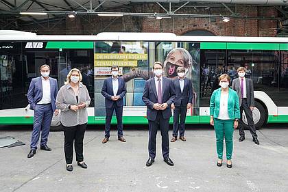
[[[227,49],[279,50],[279,44],[278,43],[228,42]]]

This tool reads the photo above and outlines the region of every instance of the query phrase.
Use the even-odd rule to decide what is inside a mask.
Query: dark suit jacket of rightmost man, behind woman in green
[[[254,107],[255,102],[254,102],[254,87],[253,87],[253,81],[252,79],[246,79],[246,96],[247,96],[247,103],[249,107]],[[232,89],[235,90],[238,94],[239,97],[239,106],[242,104],[242,99],[241,99],[241,87],[240,87],[240,79],[234,79],[232,81]]]

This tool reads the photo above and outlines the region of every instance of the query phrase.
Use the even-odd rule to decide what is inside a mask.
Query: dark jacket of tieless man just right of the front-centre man
[[[181,92],[179,79],[173,80],[174,90],[176,92],[176,99],[174,100],[174,105],[176,107],[186,107],[188,103],[192,103],[193,89],[192,82],[190,79],[184,79],[184,88]]]

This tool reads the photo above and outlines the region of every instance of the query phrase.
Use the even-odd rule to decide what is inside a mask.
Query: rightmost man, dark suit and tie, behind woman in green
[[[253,137],[253,141],[255,144],[259,145],[259,141],[257,139],[256,128],[254,125],[252,111],[254,109],[254,87],[252,79],[245,78],[245,68],[239,67],[237,69],[239,78],[234,79],[232,81],[232,89],[235,90],[239,96],[239,106],[241,118],[239,120],[239,141],[244,141],[245,133],[243,128],[243,120],[242,113],[245,111],[245,115],[248,122],[249,131]]]

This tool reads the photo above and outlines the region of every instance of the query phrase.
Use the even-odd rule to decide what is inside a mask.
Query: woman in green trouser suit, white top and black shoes
[[[227,167],[231,168],[233,132],[234,128],[238,126],[240,109],[237,92],[228,87],[229,83],[229,75],[221,74],[219,77],[221,87],[213,92],[210,100],[210,124],[215,128],[218,154],[217,166],[222,166],[225,136]]]

